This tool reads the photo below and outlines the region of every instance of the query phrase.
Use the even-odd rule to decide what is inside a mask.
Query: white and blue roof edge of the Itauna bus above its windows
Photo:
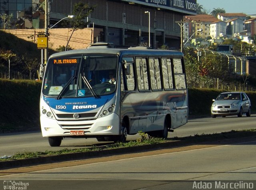
[[[146,48],[131,48],[131,49],[119,49],[119,48],[106,48],[106,47],[94,47],[88,49],[75,49],[70,51],[62,51],[52,54],[49,58],[64,56],[70,54],[82,54],[82,53],[106,53],[116,55],[152,55],[152,56],[183,56],[181,51],[163,50],[163,49],[146,49]]]

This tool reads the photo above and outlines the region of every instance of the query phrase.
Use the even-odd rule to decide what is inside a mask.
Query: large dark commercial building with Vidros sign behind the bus
[[[49,12],[48,26],[52,26],[72,14],[74,4],[80,1],[50,0],[46,11],[45,0],[0,0],[0,12],[13,14],[12,29],[44,29],[45,12]],[[118,46],[138,46],[150,42],[153,48],[162,45],[179,48],[182,28],[177,22],[182,21],[184,15],[196,15],[196,0],[82,2],[96,6],[88,17],[88,28],[103,30],[93,41],[112,42]]]

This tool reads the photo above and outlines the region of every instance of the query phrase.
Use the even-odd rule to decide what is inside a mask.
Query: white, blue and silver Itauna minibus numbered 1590
[[[114,73],[114,83],[108,73]],[[40,95],[40,125],[50,146],[64,138],[126,141],[139,132],[167,138],[188,122],[184,55],[106,45],[64,51],[48,59]]]

